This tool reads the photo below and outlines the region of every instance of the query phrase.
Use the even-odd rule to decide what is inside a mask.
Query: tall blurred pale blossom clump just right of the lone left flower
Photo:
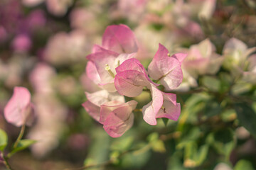
[[[37,108],[37,121],[27,137],[38,141],[31,146],[31,151],[35,157],[42,158],[58,147],[66,127],[68,108],[54,94],[35,94],[33,101]]]

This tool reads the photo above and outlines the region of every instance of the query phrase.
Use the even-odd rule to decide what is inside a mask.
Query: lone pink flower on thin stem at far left
[[[34,119],[31,94],[25,87],[14,88],[14,94],[4,108],[4,117],[7,122],[16,126],[31,125]]]

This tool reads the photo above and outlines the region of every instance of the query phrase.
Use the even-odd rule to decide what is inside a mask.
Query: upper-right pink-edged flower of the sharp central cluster
[[[176,89],[182,82],[183,74],[181,62],[186,54],[178,53],[169,57],[169,52],[163,45],[159,44],[152,62],[149,64],[149,76],[165,87],[166,90]]]

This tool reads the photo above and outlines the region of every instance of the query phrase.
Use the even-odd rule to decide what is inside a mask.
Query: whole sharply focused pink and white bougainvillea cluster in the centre
[[[87,101],[82,106],[111,137],[120,137],[133,124],[132,111],[137,101],[125,102],[124,96],[133,98],[144,90],[150,91],[152,101],[142,108],[143,118],[149,125],[156,125],[156,118],[178,120],[181,113],[176,94],[165,93],[158,87],[161,84],[164,91],[171,91],[181,84],[181,62],[186,54],[170,55],[166,47],[159,44],[146,71],[137,60],[138,46],[127,26],[109,26],[102,45],[95,45],[92,54],[87,56],[87,77],[101,90],[85,92]]]

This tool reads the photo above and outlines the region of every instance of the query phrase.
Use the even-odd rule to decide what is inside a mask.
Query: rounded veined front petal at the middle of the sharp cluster
[[[115,76],[114,86],[119,94],[135,97],[142,93],[144,86],[149,86],[149,81],[141,72],[128,70]]]

